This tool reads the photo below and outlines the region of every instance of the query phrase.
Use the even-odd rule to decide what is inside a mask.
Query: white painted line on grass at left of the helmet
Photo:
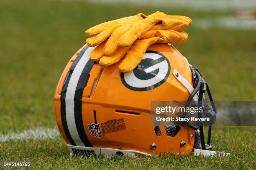
[[[49,139],[56,138],[59,135],[60,133],[57,128],[38,127],[35,129],[24,130],[20,133],[15,133],[11,130],[7,134],[0,134],[0,142],[6,142],[8,140]]]

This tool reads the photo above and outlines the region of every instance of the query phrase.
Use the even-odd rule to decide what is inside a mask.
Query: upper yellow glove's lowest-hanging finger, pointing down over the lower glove
[[[131,24],[125,24],[115,28],[103,49],[105,55],[113,55],[116,52],[119,47],[118,40],[123,35],[123,33],[130,27]]]

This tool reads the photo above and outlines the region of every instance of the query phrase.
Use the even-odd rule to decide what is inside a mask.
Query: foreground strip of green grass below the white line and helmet
[[[72,157],[61,137],[48,140],[9,141],[0,144],[0,160],[31,161],[37,169],[255,169],[255,128],[214,128],[214,150],[226,150],[230,156],[202,158],[190,155],[143,158]]]

